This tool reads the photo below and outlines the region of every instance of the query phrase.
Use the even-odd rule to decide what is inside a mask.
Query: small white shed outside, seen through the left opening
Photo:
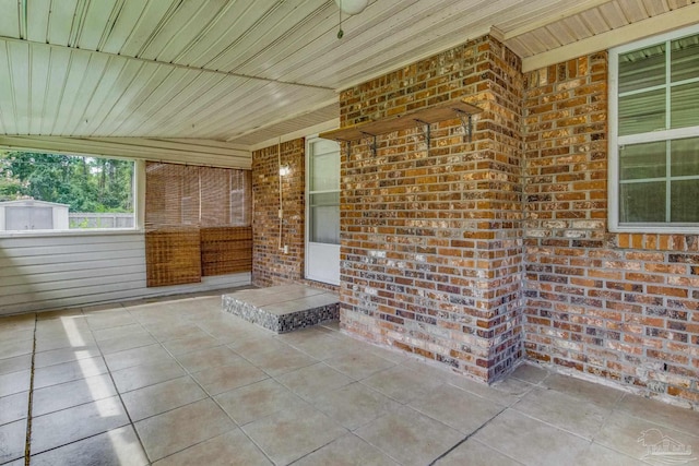
[[[0,202],[0,231],[67,230],[68,207],[33,199]]]

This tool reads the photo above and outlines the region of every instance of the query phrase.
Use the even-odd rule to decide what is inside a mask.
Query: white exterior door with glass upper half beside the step
[[[306,278],[340,285],[340,144],[306,144]]]

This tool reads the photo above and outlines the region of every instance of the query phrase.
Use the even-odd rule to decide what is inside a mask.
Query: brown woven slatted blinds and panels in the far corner
[[[251,208],[248,170],[147,163],[147,286],[250,271]]]

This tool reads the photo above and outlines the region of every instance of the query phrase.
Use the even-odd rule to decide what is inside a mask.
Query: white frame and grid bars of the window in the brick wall
[[[641,134],[618,135],[618,87],[619,87],[619,55],[641,49],[644,47],[671,41],[685,36],[699,34],[699,24],[685,27],[671,33],[649,37],[631,44],[609,49],[609,82],[608,82],[608,170],[607,170],[607,205],[608,228],[612,232],[655,232],[655,234],[697,234],[698,224],[679,223],[619,223],[619,147],[626,144],[640,144],[649,142],[672,141],[685,138],[699,138],[699,126],[661,130]],[[670,61],[670,49],[666,59]],[[670,73],[670,70],[666,70]],[[686,83],[686,82],[683,82]],[[644,89],[647,91],[647,89]],[[670,118],[670,110],[667,118]],[[670,200],[667,201],[670,202]]]

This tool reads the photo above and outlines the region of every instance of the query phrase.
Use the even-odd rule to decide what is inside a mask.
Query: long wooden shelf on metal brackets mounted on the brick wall
[[[470,117],[482,111],[478,107],[461,100],[451,100],[433,107],[420,108],[403,115],[395,115],[377,121],[367,121],[353,127],[341,128],[319,134],[320,138],[333,141],[356,141],[362,138],[378,136],[393,131],[406,130],[424,124],[454,118]],[[464,123],[465,124],[465,123]]]

